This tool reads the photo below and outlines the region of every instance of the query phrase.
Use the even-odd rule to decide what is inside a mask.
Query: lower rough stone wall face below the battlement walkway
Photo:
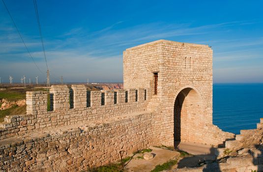
[[[77,172],[158,143],[151,113],[0,141],[0,172]]]

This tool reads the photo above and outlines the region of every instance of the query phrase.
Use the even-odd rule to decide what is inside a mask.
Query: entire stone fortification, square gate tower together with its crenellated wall
[[[158,73],[158,81],[154,80]],[[159,40],[123,52],[124,89],[27,92],[27,115],[0,124],[0,171],[78,171],[149,145],[221,144],[212,124],[212,50]],[[157,83],[156,83],[157,82]],[[157,89],[155,94],[154,89]]]

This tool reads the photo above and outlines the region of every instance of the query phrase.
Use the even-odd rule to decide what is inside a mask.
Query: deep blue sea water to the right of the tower
[[[213,123],[239,134],[257,128],[263,117],[263,84],[214,84]]]

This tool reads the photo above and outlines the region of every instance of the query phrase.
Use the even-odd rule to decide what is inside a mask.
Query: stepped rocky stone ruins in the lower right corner
[[[241,130],[235,140],[226,141],[225,147],[214,151],[214,160],[166,172],[263,172],[263,118],[257,129]]]

